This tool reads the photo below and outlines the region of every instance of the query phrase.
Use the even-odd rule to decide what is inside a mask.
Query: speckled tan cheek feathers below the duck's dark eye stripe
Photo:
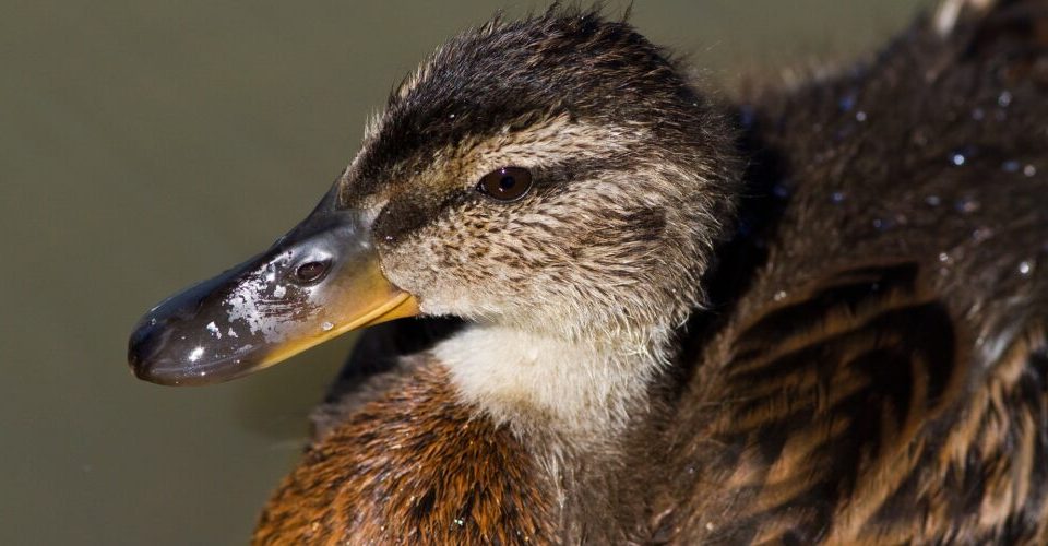
[[[696,285],[704,263],[676,203],[638,199],[666,183],[654,171],[575,180],[501,207],[478,201],[449,210],[397,245],[398,286],[419,290],[425,312],[532,329],[556,323],[570,336],[677,323],[700,294],[670,285]]]

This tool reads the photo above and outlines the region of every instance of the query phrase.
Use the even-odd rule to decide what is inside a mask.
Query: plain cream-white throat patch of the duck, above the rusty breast
[[[499,324],[473,324],[433,348],[462,401],[524,439],[558,451],[608,448],[644,415],[668,360],[667,335],[569,340]]]

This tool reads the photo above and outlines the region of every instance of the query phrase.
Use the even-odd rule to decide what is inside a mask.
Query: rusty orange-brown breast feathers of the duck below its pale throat
[[[438,363],[313,444],[254,544],[543,544],[548,486],[507,427],[463,406]]]

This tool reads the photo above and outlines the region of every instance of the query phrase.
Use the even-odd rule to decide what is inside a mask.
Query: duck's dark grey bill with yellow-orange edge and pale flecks
[[[329,193],[266,252],[146,313],[128,361],[154,383],[217,383],[417,313],[415,298],[383,276],[369,226]]]

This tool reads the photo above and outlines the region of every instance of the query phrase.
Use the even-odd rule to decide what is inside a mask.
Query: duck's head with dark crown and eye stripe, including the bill
[[[550,11],[434,52],[320,205],[150,311],[142,379],[228,380],[413,314],[616,343],[668,335],[731,216],[734,133],[624,22]]]

